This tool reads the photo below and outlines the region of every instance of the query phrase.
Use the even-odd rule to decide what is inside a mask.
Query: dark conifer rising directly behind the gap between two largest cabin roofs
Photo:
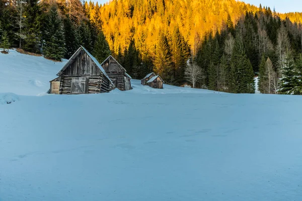
[[[106,41],[104,33],[102,31],[100,31],[97,42],[94,46],[93,56],[100,63],[102,63],[110,54],[111,54],[111,51],[109,49],[109,45]]]

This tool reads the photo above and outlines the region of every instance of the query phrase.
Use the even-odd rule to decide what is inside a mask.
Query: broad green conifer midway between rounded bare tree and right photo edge
[[[254,72],[250,60],[245,53],[243,41],[236,37],[231,59],[230,92],[254,93]]]

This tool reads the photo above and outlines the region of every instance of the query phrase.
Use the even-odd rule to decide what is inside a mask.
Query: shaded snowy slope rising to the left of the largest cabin
[[[0,53],[0,92],[20,95],[45,93],[50,87],[49,81],[57,77],[66,62],[20,54],[16,50],[10,50],[9,54]]]

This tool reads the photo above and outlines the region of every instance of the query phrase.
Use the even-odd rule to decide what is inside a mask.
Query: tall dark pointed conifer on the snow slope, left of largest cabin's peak
[[[55,6],[50,8],[47,16],[45,33],[44,56],[49,59],[61,61],[65,54],[64,33],[62,22]]]

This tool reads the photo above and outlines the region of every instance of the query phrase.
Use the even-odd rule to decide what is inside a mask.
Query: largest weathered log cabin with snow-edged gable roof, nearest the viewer
[[[57,76],[50,81],[51,93],[103,93],[109,92],[113,85],[101,64],[83,46],[71,56]]]

